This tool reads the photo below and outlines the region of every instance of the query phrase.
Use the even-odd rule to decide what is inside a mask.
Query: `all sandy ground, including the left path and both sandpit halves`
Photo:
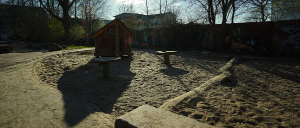
[[[110,64],[110,79],[90,62],[92,52],[1,62],[0,127],[112,128],[117,116],[144,104],[157,108],[220,74],[229,61],[178,53],[166,66],[153,50],[133,52]],[[219,128],[300,128],[298,62],[243,60],[232,75],[233,82],[171,112]]]

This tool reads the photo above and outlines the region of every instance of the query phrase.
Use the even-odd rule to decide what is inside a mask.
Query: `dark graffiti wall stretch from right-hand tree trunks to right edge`
[[[300,20],[234,23],[227,30],[234,52],[300,55]]]

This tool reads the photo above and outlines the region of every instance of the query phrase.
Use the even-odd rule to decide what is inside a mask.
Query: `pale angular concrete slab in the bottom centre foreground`
[[[188,117],[143,105],[118,117],[114,128],[215,128]]]

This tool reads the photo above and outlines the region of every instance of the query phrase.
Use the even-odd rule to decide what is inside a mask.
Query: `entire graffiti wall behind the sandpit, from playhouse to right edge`
[[[299,24],[300,20],[227,24],[223,46],[237,53],[300,55]],[[201,24],[176,24],[160,34],[153,29],[137,30],[133,44],[214,49],[215,37],[209,28]]]

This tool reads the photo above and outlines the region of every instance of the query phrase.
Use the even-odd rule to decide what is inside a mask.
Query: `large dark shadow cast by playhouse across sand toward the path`
[[[110,63],[109,79],[103,78],[102,65],[93,62],[63,73],[57,88],[63,95],[65,121],[69,127],[90,113],[112,112],[115,101],[135,76],[129,71],[131,61],[132,58],[122,58]]]

